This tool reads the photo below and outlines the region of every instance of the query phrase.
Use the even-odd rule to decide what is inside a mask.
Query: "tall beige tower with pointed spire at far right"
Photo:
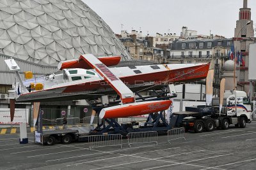
[[[247,25],[248,24],[248,25]],[[243,8],[239,9],[239,20],[236,21],[234,34],[235,52],[243,55],[245,65],[236,66],[237,89],[249,92],[248,65],[249,44],[255,42],[251,9],[247,6],[247,0],[243,1]],[[254,88],[255,89],[255,85]]]

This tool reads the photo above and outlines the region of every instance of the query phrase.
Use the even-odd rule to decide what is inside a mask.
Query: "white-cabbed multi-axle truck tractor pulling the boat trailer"
[[[220,106],[220,98],[214,98],[211,106],[186,107],[186,111],[173,113],[171,124],[196,133],[211,132],[216,128],[225,130],[231,124],[244,128],[252,121],[253,107],[246,92],[225,90],[223,106]]]

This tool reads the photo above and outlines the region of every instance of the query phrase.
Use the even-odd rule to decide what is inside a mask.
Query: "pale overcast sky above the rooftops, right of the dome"
[[[198,34],[232,38],[243,0],[83,0],[116,33],[132,29],[180,35],[182,26]],[[256,1],[248,0],[256,24]],[[253,23],[253,27],[255,27]]]

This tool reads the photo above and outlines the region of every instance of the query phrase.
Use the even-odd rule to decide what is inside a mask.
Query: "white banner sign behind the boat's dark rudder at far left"
[[[21,123],[26,123],[28,125],[28,109],[15,109],[15,115],[13,121],[11,122],[10,108],[0,108],[0,124],[15,124],[19,125]]]

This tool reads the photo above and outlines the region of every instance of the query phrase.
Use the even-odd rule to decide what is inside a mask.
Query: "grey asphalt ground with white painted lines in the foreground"
[[[186,133],[170,145],[158,136],[158,145],[106,146],[88,143],[42,146],[19,144],[19,134],[0,136],[0,169],[256,169],[256,122],[239,129],[200,134]]]

